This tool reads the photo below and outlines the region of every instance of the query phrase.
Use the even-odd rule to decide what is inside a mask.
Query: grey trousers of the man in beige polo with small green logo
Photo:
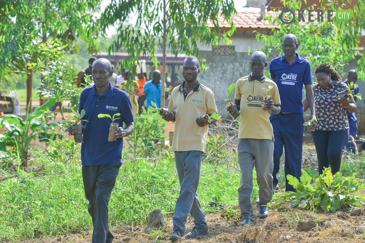
[[[176,201],[172,218],[174,230],[185,232],[188,215],[193,217],[196,228],[207,226],[205,214],[201,210],[198,195],[200,164],[203,158],[201,151],[175,151],[175,164],[180,181],[180,194]]]

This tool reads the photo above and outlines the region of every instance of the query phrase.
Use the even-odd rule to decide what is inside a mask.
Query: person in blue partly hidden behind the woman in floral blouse
[[[345,80],[346,85],[349,85],[351,82],[354,83],[354,86],[351,88],[351,91],[353,91],[353,94],[359,93],[359,86],[356,84],[357,81],[357,72],[354,69],[351,69],[347,74],[347,79]],[[354,96],[354,101],[356,102],[357,97]],[[356,154],[356,144],[354,144],[351,136],[356,140],[357,138],[357,118],[354,112],[347,112],[347,119],[349,119],[349,125],[350,125],[350,138],[349,142],[346,144],[347,151],[350,151],[353,154]]]

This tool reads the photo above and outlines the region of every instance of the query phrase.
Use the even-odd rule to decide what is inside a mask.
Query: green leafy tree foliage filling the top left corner
[[[0,0],[0,86],[12,84],[12,75],[28,74],[28,62],[42,59],[38,44],[48,39],[72,43],[77,37],[87,41],[89,49],[97,46],[96,35],[89,28],[101,0]],[[71,48],[72,45],[69,46]],[[30,97],[27,101],[29,102]]]

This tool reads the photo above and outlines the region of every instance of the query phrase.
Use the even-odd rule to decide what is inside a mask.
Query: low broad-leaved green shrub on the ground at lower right
[[[291,207],[299,209],[317,209],[320,206],[325,211],[335,212],[344,206],[360,206],[365,204],[365,196],[351,192],[364,189],[364,180],[356,179],[354,173],[351,177],[342,176],[337,172],[334,176],[329,168],[325,168],[323,174],[315,179],[312,184],[312,177],[302,170],[300,182],[292,175],[287,179],[297,192],[284,192],[274,203],[277,208],[280,203],[290,203]]]

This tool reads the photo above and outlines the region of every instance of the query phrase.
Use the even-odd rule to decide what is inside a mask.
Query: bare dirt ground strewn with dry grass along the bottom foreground
[[[365,190],[361,191],[365,194]],[[318,213],[311,211],[298,211],[290,209],[282,212],[276,210],[269,212],[266,219],[256,219],[254,226],[238,227],[240,220],[238,207],[234,207],[237,212],[233,216],[224,217],[225,211],[208,214],[206,219],[210,227],[210,235],[201,239],[189,240],[184,238],[186,243],[281,243],[281,242],[301,242],[301,243],[364,243],[365,242],[365,210],[361,215],[353,216],[346,212]],[[257,209],[254,207],[255,213]],[[147,214],[147,213],[146,213]],[[166,219],[165,219],[166,220]],[[301,227],[313,225],[311,230],[301,230]],[[144,226],[123,226],[112,228],[115,236],[115,243],[150,243],[150,242],[170,242],[169,234],[172,231],[171,219],[167,219],[165,229],[161,231],[145,230]],[[188,218],[187,229],[191,230],[193,220]],[[68,242],[68,243],[90,243],[89,233],[60,235],[47,239],[26,240],[24,243],[45,243],[45,242]]]

